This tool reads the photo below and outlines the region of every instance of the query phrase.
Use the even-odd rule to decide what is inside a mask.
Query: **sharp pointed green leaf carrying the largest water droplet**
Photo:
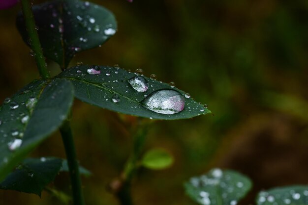
[[[137,88],[140,90],[138,92],[129,83],[129,79],[137,76],[117,67],[77,66],[63,71],[58,77],[64,77],[73,83],[75,97],[79,100],[124,114],[151,119],[175,120],[211,113],[204,105],[195,102],[192,98],[185,98],[183,91],[148,77],[143,76],[149,83],[147,91],[141,92],[144,91],[141,86]],[[133,85],[136,86],[135,84]],[[173,93],[171,95],[169,93],[167,96],[159,95],[158,101],[161,100],[160,103],[157,103],[157,99],[147,103],[166,105],[169,108],[175,106],[178,109],[179,104],[182,106],[184,103],[173,101],[176,98],[177,100],[185,101],[184,110],[176,114],[161,114],[150,110],[148,106],[144,106],[145,99],[149,99],[155,91],[161,90]],[[168,112],[173,112],[174,110],[171,109]]]

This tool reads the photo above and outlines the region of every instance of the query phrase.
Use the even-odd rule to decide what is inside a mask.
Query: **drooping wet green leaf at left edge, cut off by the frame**
[[[65,79],[33,81],[0,107],[0,181],[59,128],[73,103]]]

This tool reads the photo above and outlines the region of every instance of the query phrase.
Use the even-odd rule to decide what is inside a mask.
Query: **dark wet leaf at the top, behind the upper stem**
[[[44,55],[66,68],[75,53],[98,47],[117,29],[106,8],[80,0],[54,0],[35,5],[33,14]],[[29,45],[22,14],[16,24]]]

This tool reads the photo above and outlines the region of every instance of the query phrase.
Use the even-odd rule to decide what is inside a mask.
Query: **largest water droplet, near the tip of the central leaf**
[[[149,110],[168,115],[181,112],[185,106],[184,97],[175,90],[155,91],[141,103]]]

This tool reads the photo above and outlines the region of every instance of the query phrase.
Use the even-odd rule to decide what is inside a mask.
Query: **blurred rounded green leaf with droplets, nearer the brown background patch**
[[[251,181],[244,175],[217,168],[185,183],[187,195],[201,205],[236,205],[250,188]]]

